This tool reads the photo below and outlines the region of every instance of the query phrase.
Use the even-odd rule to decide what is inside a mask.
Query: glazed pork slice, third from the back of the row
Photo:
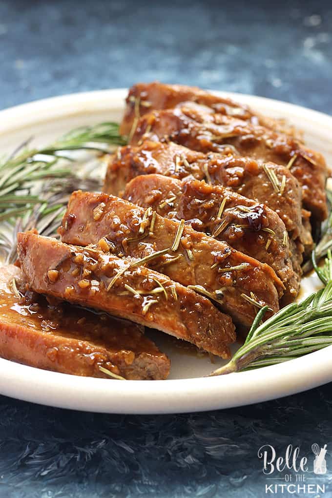
[[[296,178],[285,166],[261,164],[247,157],[229,153],[205,154],[174,142],[144,140],[139,146],[125,146],[111,156],[104,191],[122,195],[125,185],[138,175],[159,173],[172,178],[187,177],[222,185],[242,196],[263,203],[275,211],[288,231],[292,244],[293,266],[302,263],[302,253],[313,247],[311,227],[303,225],[302,193]],[[277,192],[268,174],[277,178],[282,193]]]

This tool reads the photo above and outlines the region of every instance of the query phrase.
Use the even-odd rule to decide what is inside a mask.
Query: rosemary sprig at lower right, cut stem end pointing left
[[[299,303],[291,303],[261,323],[268,307],[261,308],[244,345],[227,365],[211,375],[239,372],[292,360],[332,345],[332,252],[317,268],[325,287]],[[261,324],[260,324],[261,323]]]

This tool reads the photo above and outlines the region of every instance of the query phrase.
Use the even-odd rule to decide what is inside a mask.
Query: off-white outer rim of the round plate
[[[287,117],[295,114],[297,118],[302,117],[320,127],[326,125],[332,132],[332,117],[319,111],[266,97],[212,92],[245,102],[249,106],[262,105],[271,110],[278,106],[279,114]],[[126,93],[127,89],[123,88],[80,92],[2,110],[0,137],[11,131],[28,128],[31,124],[121,109]],[[51,118],[49,113],[53,113]],[[23,123],[17,124],[18,117]],[[329,382],[332,380],[331,353],[332,346],[329,346],[286,362],[287,369],[284,368],[285,363],[226,376],[126,380],[124,384],[120,380],[111,382],[109,379],[50,372],[0,359],[0,393],[35,403],[82,411],[127,414],[206,411],[266,401]]]

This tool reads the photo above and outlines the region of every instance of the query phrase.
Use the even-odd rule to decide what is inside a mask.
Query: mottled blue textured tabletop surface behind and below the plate
[[[332,114],[331,1],[170,4],[1,1],[0,108],[160,79]],[[281,452],[299,445],[308,456],[313,442],[327,443],[332,470],[330,385],[232,410],[151,417],[1,397],[0,415],[1,497],[265,497],[257,458],[265,443]]]

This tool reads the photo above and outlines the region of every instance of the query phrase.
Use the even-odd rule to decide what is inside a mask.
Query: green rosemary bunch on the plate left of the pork
[[[46,147],[27,148],[30,141],[0,161],[0,252],[7,263],[15,259],[17,232],[37,228],[54,236],[71,192],[100,189],[80,161],[63,153],[105,153],[110,145],[123,145],[125,137],[117,124],[102,123],[76,128]]]

